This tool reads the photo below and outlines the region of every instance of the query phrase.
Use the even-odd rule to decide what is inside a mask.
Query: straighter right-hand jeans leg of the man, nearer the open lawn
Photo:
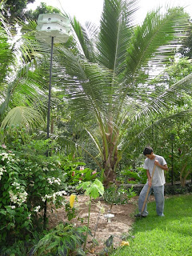
[[[158,216],[164,216],[164,185],[163,186],[154,186],[154,198],[156,202],[156,211]]]

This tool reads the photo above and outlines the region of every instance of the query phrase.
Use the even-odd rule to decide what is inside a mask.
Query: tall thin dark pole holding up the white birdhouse
[[[48,108],[47,108],[47,124],[46,124],[46,138],[50,138],[50,96],[51,96],[51,78],[52,78],[52,63],[53,63],[53,49],[54,49],[54,37],[51,37],[51,50],[50,50],[50,84],[49,84],[49,98],[48,98]],[[46,150],[46,156],[49,156],[49,150]],[[43,225],[46,228],[46,201],[44,204],[44,215],[43,215]]]

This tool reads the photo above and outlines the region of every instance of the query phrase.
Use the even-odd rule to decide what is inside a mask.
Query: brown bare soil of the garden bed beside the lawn
[[[70,198],[66,197],[66,202]],[[77,210],[77,217],[71,220],[74,225],[86,225],[88,221],[88,205],[89,198],[85,195],[78,196],[78,202],[74,202],[74,207]],[[131,226],[134,223],[134,213],[138,206],[138,196],[131,198],[129,203],[125,205],[110,205],[100,198],[91,203],[90,208],[90,230],[93,237],[88,237],[87,247],[90,251],[87,255],[98,255],[104,248],[105,242],[110,235],[114,236],[114,247],[120,246],[123,237],[128,237]],[[102,209],[102,210],[101,210]],[[105,212],[103,212],[105,210]],[[110,218],[110,222],[105,217],[105,214],[114,214],[114,218]],[[50,228],[56,226],[59,222],[68,222],[66,218],[65,207],[58,210],[48,210]],[[79,222],[78,218],[83,218],[83,223]],[[98,241],[98,246],[94,246],[91,242],[95,238]]]

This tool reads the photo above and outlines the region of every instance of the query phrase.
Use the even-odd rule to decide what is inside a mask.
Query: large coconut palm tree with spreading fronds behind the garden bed
[[[152,82],[154,71],[174,56],[186,35],[187,15],[178,8],[162,14],[158,8],[135,26],[137,3],[104,0],[98,27],[90,22],[82,26],[68,16],[73,44],[54,46],[54,85],[65,92],[76,121],[93,140],[106,186],[115,179],[127,147],[126,130],[173,106],[179,90],[191,90],[191,75],[163,94],[155,93]],[[42,53],[48,54],[45,49]]]

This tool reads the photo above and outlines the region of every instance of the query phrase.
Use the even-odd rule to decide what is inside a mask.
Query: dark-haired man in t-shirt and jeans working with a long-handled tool
[[[134,215],[135,217],[146,217],[148,215],[147,212],[147,203],[146,206],[142,212],[142,206],[146,198],[147,190],[150,186],[150,191],[148,194],[148,198],[150,197],[150,194],[152,191],[154,191],[154,198],[156,202],[156,211],[158,216],[164,216],[163,210],[164,210],[164,184],[165,176],[164,176],[164,170],[168,170],[168,167],[166,165],[166,160],[162,158],[161,156],[154,154],[154,150],[147,146],[145,150],[143,151],[143,154],[146,156],[146,160],[144,162],[144,168],[146,169],[146,175],[147,175],[147,182],[146,185],[143,186],[141,193],[139,194],[138,198],[138,211],[139,213]],[[155,165],[155,170],[154,170]],[[151,175],[154,170],[154,177],[153,180],[151,180]],[[147,198],[147,200],[148,200]]]

